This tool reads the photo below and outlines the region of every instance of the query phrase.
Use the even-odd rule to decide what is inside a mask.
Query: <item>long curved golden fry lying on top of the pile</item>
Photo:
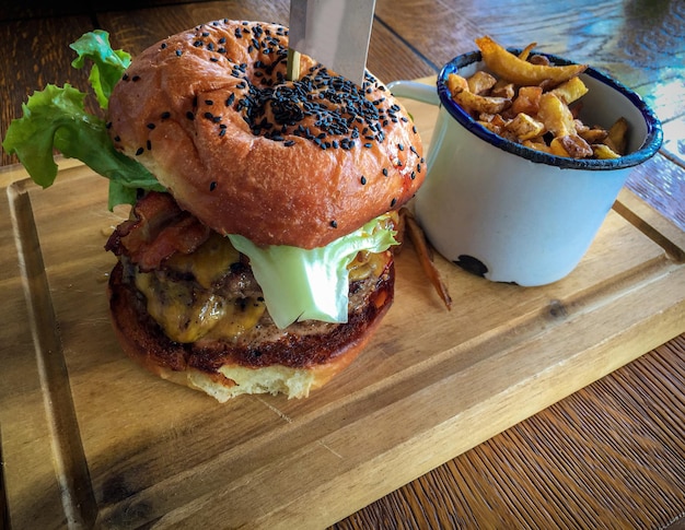
[[[561,84],[588,68],[587,64],[533,64],[510,54],[488,36],[477,38],[476,45],[488,69],[515,84],[533,85],[543,81]]]

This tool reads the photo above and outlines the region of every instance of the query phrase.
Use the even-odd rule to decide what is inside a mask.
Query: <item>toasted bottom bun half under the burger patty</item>
[[[369,342],[393,303],[395,281],[391,261],[374,285],[364,287],[364,302],[350,310],[347,323],[317,322],[307,328],[302,322],[235,342],[184,344],[164,334],[148,315],[144,296],[125,276],[119,262],[108,284],[112,322],[123,350],[156,376],[222,403],[243,393],[304,398],[328,382]]]

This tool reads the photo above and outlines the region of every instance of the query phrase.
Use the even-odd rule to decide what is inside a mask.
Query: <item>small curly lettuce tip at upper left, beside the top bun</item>
[[[73,68],[83,68],[85,59],[92,61],[89,81],[95,92],[97,103],[106,109],[114,85],[131,63],[130,54],[120,49],[113,50],[109,45],[109,34],[102,30],[85,33],[69,47],[79,56],[71,62]]]

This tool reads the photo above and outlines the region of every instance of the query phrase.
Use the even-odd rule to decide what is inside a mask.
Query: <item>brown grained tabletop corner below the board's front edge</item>
[[[685,335],[332,528],[664,528],[685,510]]]

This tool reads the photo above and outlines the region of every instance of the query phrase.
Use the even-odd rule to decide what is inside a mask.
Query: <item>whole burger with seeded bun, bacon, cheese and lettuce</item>
[[[43,186],[53,148],[79,157],[131,204],[105,246],[126,353],[221,402],[305,397],[348,366],[393,303],[397,212],[425,176],[404,107],[304,55],[289,80],[277,24],[214,21],[132,60],[104,32],[72,47],[102,118],[49,85],[3,145]]]

